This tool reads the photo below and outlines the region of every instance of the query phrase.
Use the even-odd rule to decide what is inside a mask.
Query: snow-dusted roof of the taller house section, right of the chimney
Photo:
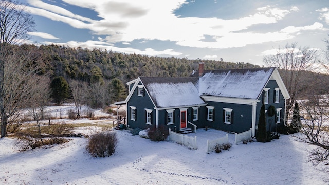
[[[275,68],[213,70],[200,78],[200,95],[258,99]]]

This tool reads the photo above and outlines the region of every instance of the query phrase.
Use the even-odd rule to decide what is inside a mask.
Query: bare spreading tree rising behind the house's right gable
[[[318,52],[315,49],[304,47],[297,48],[297,43],[279,48],[277,54],[267,55],[263,58],[269,67],[277,67],[281,78],[287,87],[290,99],[287,100],[286,118],[298,98],[298,90],[302,82],[302,72],[312,71],[318,61]]]

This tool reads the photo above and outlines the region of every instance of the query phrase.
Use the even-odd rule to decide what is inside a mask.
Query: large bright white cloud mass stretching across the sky
[[[102,35],[104,37],[98,38],[98,40],[104,44],[117,42],[128,44],[141,39],[144,40],[143,42],[161,40],[172,41],[181,46],[222,49],[283,41],[294,38],[305,30],[324,30],[322,24],[314,23],[304,27],[290,26],[282,30],[279,28],[277,31],[267,33],[244,31],[254,25],[277,23],[287,14],[299,11],[295,6],[289,10],[266,6],[257,9],[257,13],[249,16],[223,20],[220,18],[181,18],[175,16],[173,11],[187,3],[185,0],[63,1],[70,5],[92,9],[101,19],[92,20],[82,17],[61,7],[40,3],[40,0],[30,0],[32,2],[30,4],[34,7],[28,8],[32,14],[44,16],[53,21],[61,21],[75,28],[89,29],[95,35]],[[211,36],[215,42],[202,41],[204,35]],[[122,48],[119,49],[122,50]],[[127,50],[131,51],[132,48],[127,48]],[[151,49],[140,52],[148,52],[151,55],[152,53],[179,55],[172,50],[153,51]]]

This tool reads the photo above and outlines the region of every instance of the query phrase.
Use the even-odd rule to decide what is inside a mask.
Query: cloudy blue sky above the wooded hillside
[[[36,30],[29,43],[102,48],[264,65],[266,54],[297,42],[322,50],[326,1],[21,0]]]

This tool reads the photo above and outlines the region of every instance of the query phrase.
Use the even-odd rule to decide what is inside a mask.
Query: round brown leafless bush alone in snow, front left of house
[[[110,130],[101,131],[89,136],[87,150],[93,157],[111,156],[117,146],[117,133]]]

